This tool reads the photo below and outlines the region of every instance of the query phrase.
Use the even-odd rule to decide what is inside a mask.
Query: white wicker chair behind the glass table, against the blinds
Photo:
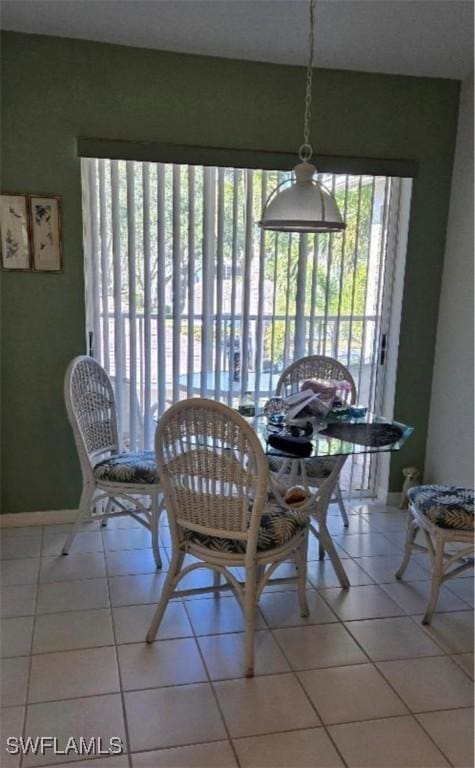
[[[346,401],[349,405],[356,401],[356,384],[348,368],[345,368],[345,366],[342,365],[342,363],[339,363],[338,360],[334,360],[332,357],[324,357],[323,355],[309,355],[308,357],[302,357],[294,363],[291,363],[285,371],[283,371],[277,382],[276,395],[286,397],[293,392],[297,392],[306,379],[334,379],[335,381],[347,381],[351,385],[351,390],[346,396]],[[306,473],[309,482],[311,482],[312,479],[316,481],[321,478],[322,474],[319,470],[325,465],[328,466],[328,463],[328,459],[325,459],[325,462],[319,461],[318,459],[307,461]],[[273,468],[272,464],[271,468]],[[344,526],[348,527],[348,515],[346,514],[339,482],[335,485],[333,500],[338,504]]]

